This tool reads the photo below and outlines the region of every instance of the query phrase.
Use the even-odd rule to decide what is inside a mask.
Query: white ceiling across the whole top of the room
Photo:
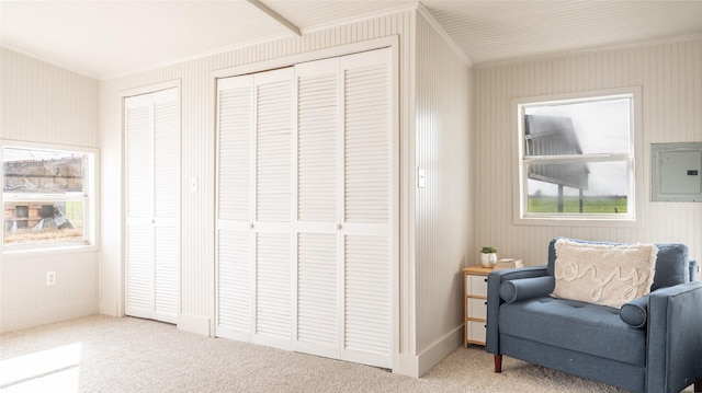
[[[262,0],[302,34],[405,0]],[[475,65],[702,36],[702,1],[423,0],[421,7]],[[0,45],[110,79],[295,35],[245,0],[5,1]]]

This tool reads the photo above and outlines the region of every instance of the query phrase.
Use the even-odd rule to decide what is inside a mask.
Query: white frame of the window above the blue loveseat
[[[639,162],[642,158],[642,100],[641,88],[621,88],[597,91],[574,92],[566,94],[553,94],[541,96],[529,96],[512,100],[511,109],[513,114],[513,129],[516,137],[512,139],[513,150],[513,167],[514,193],[513,198],[513,222],[514,224],[526,226],[564,226],[564,227],[643,227],[642,216],[642,190],[643,190],[643,167]],[[568,155],[548,157],[546,160],[526,159],[524,151],[524,108],[528,106],[537,106],[555,103],[578,103],[578,102],[598,102],[612,99],[631,99],[630,112],[630,152],[627,153],[599,153],[586,154],[577,159]],[[539,163],[567,163],[573,161],[582,162],[621,162],[629,161],[627,172],[627,212],[619,213],[528,213],[529,188],[526,176],[526,164],[537,161]]]

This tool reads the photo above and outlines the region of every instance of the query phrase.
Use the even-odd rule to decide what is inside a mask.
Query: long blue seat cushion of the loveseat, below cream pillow
[[[646,330],[631,328],[619,310],[551,297],[503,303],[500,335],[645,366]]]

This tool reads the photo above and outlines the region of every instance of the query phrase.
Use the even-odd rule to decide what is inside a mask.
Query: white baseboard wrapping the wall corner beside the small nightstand
[[[414,378],[423,375],[464,344],[463,335],[463,325],[461,325],[438,339],[419,355],[399,354],[394,359],[393,372]]]

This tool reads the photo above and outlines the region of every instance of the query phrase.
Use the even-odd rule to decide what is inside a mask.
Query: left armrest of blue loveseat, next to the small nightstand
[[[522,267],[518,269],[496,270],[487,276],[487,324],[485,350],[499,355],[499,311],[503,300],[500,298],[500,285],[507,280],[546,276],[546,265]]]

